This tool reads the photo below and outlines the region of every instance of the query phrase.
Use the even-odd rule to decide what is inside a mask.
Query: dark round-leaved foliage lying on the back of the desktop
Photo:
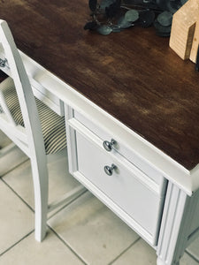
[[[127,27],[154,25],[157,35],[169,36],[172,15],[187,0],[89,0],[91,20],[84,29],[107,35]]]

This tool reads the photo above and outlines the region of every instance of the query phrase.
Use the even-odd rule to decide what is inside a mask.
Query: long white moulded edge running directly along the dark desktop
[[[47,87],[52,95],[61,99],[67,105],[73,107],[80,114],[87,117],[91,122],[103,125],[103,128],[110,132],[115,132],[115,137],[126,148],[134,151],[134,154],[139,156],[144,162],[147,162],[151,168],[158,170],[165,178],[171,180],[177,186],[182,188],[186,193],[191,195],[198,187],[199,180],[192,171],[188,171],[180,166],[179,163],[173,161],[168,155],[161,152],[147,140],[142,139],[137,133],[132,132],[126,125],[123,125],[114,117],[111,117],[107,112],[90,102],[83,95],[65,84],[61,79],[58,79],[52,73],[43,69],[43,67],[35,63],[32,59],[26,57],[28,67],[31,68],[32,77],[34,72],[42,71],[42,78],[38,81],[42,87]],[[196,169],[198,174],[199,168]]]

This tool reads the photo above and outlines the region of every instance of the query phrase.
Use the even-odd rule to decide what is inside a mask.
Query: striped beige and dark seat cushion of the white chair
[[[19,100],[13,80],[9,77],[0,83],[7,106],[17,125],[24,126]],[[65,117],[60,117],[48,106],[35,98],[41,125],[46,154],[54,154],[66,148]]]

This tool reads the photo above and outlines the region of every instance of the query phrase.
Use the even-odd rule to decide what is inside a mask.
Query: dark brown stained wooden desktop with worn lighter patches
[[[0,18],[27,56],[188,170],[199,163],[199,72],[153,27],[85,31],[87,0],[2,0]]]

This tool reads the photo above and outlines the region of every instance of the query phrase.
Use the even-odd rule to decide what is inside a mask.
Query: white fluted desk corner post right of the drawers
[[[169,183],[160,235],[157,243],[157,265],[179,265],[188,241],[191,197]]]

